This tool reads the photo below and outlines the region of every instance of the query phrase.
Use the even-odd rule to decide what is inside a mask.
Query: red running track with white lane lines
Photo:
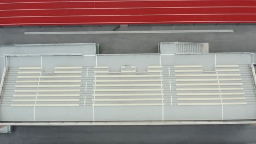
[[[254,0],[2,0],[0,26],[256,23]]]

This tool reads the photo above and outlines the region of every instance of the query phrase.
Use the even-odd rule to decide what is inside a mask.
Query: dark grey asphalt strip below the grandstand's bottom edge
[[[254,143],[254,125],[19,126],[1,144]]]

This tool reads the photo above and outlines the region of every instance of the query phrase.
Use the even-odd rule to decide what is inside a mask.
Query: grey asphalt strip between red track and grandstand
[[[256,52],[254,44],[256,25],[123,25],[115,29],[115,31],[234,29],[234,33],[24,35],[24,32],[112,31],[115,27],[5,27],[0,28],[0,44],[97,43],[100,44],[100,53],[157,53],[160,42],[186,41],[210,43],[210,52]]]

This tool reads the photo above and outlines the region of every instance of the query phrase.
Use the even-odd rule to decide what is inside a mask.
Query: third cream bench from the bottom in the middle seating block
[[[161,93],[112,93],[112,94],[93,94],[95,97],[122,97],[122,96],[161,96]]]

